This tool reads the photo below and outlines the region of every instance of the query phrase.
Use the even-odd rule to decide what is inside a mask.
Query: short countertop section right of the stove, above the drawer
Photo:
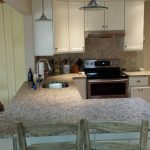
[[[150,76],[150,71],[125,71],[128,76]]]

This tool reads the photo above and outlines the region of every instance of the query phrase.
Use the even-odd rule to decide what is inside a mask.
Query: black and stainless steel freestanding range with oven
[[[85,60],[87,98],[128,97],[128,76],[122,73],[119,60]]]

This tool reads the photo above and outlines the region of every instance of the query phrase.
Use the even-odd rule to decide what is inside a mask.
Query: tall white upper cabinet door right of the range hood
[[[144,2],[125,2],[124,50],[143,50]]]

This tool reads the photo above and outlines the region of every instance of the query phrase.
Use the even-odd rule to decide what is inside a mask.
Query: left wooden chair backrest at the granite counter
[[[83,125],[84,122],[78,123],[51,123],[24,127],[22,123],[17,124],[18,142],[20,150],[83,150]],[[60,143],[42,143],[27,146],[26,135],[44,136],[44,135],[76,135],[75,142]]]

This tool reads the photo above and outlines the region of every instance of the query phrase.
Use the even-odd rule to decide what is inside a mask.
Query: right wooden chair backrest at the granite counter
[[[147,150],[148,121],[143,120],[141,124],[133,124],[124,122],[87,122],[84,119],[84,129],[86,150]],[[125,132],[140,132],[139,143],[95,140],[94,144],[92,144],[92,140],[90,140],[90,134]]]

